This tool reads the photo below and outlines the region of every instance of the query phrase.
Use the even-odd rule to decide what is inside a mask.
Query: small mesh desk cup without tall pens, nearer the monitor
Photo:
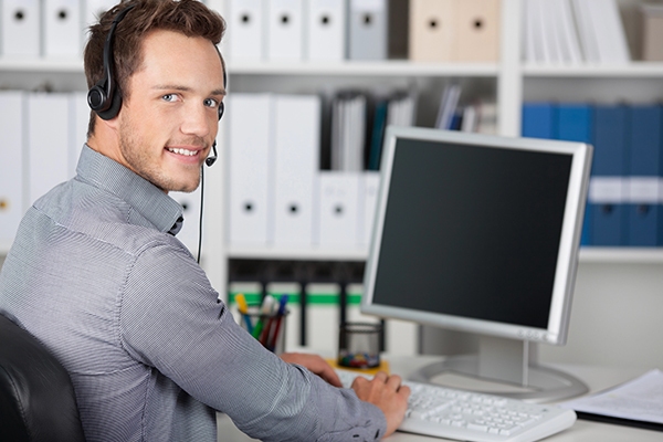
[[[380,365],[380,324],[345,323],[338,335],[338,365],[372,368]]]

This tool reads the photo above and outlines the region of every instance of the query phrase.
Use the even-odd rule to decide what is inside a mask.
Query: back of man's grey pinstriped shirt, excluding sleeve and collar
[[[212,440],[213,412],[136,360],[123,341],[123,285],[137,256],[146,246],[182,248],[148,224],[127,202],[86,182],[56,187],[22,222],[0,276],[0,311],[63,362],[88,440],[168,440],[191,417],[202,430],[194,433]],[[165,412],[152,407],[158,402],[182,409]]]

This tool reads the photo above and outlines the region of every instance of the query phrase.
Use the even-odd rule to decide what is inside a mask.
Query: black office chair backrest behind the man
[[[0,315],[0,441],[85,441],[66,370]]]

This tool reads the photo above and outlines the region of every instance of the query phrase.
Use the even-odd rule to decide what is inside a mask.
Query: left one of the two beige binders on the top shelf
[[[410,0],[410,60],[452,60],[456,0]]]

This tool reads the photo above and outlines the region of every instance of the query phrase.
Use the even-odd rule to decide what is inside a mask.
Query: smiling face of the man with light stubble
[[[224,84],[213,43],[155,31],[118,114],[120,162],[165,191],[193,191],[217,137]]]

